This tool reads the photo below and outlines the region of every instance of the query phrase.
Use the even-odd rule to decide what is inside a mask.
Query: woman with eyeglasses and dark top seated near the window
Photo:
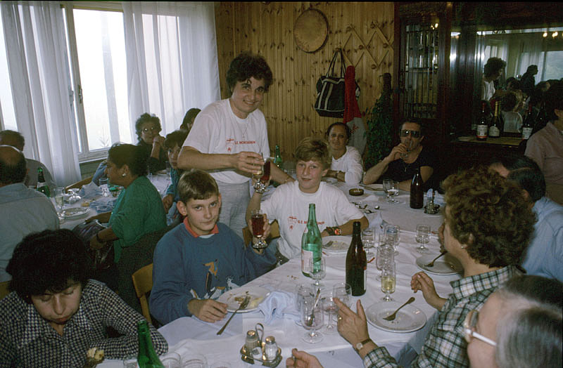
[[[137,145],[143,148],[148,157],[148,172],[156,173],[165,170],[167,155],[164,150],[164,137],[159,134],[162,130],[160,119],[145,112],[135,121],[135,130],[139,138]]]

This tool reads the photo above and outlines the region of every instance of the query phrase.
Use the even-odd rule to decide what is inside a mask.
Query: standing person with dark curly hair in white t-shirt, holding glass
[[[272,84],[272,70],[261,56],[241,53],[229,65],[227,84],[231,97],[211,103],[197,115],[178,167],[209,171],[222,195],[219,221],[242,237],[248,181],[260,173],[262,157],[270,156],[266,119],[258,107]],[[293,180],[275,165],[270,175],[278,183]]]

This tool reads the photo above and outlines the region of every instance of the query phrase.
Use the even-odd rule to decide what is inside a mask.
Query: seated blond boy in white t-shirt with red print
[[[317,225],[323,237],[352,234],[354,221],[360,221],[362,229],[368,226],[367,218],[348,202],[341,190],[321,182],[331,165],[324,141],[313,138],[301,140],[296,147],[295,157],[297,182],[279,185],[271,197],[262,203],[262,195],[254,192],[246,209],[249,228],[253,209],[262,209],[270,220],[277,219],[281,235],[277,248],[286,258],[301,254],[301,237],[307,226],[310,203],[315,203]],[[274,248],[274,244],[270,244],[267,252],[275,252]]]

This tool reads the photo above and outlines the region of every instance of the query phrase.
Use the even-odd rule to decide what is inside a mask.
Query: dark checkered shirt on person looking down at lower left
[[[0,367],[83,367],[89,348],[103,349],[108,359],[137,355],[139,320],[143,317],[105,284],[89,280],[61,336],[32,304],[12,292],[0,301]],[[167,342],[149,326],[156,353],[165,353]],[[123,336],[108,339],[106,327]]]

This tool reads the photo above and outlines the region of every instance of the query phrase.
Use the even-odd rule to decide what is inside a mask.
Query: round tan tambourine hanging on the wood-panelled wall
[[[314,53],[324,46],[329,37],[327,17],[317,9],[303,11],[293,25],[293,38],[305,53]]]

